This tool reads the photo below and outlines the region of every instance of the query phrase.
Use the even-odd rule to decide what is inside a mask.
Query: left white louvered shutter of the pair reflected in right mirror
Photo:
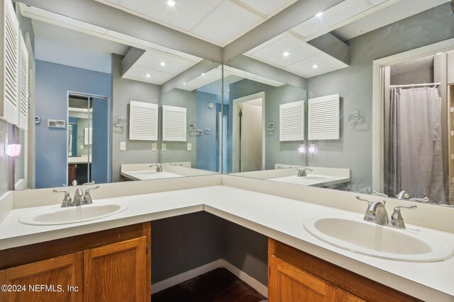
[[[279,141],[302,140],[304,140],[303,101],[279,105]]]

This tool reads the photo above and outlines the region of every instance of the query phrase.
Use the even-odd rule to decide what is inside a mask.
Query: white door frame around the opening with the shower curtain
[[[372,190],[382,192],[384,182],[384,67],[454,49],[454,38],[376,59],[372,66]],[[444,85],[446,83],[441,83]]]

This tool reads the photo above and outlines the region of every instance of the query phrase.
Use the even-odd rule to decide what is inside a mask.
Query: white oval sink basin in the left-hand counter
[[[79,223],[115,215],[128,208],[126,204],[86,204],[81,207],[50,207],[34,211],[19,222],[34,226]]]

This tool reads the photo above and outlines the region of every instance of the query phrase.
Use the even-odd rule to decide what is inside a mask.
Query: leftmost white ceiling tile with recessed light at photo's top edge
[[[101,2],[119,4],[121,8],[138,16],[190,31],[221,0],[176,0],[177,4],[173,7],[168,6],[167,1],[164,0],[105,0]]]

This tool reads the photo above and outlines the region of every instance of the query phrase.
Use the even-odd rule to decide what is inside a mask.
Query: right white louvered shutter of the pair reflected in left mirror
[[[162,106],[162,141],[186,141],[187,109]]]

